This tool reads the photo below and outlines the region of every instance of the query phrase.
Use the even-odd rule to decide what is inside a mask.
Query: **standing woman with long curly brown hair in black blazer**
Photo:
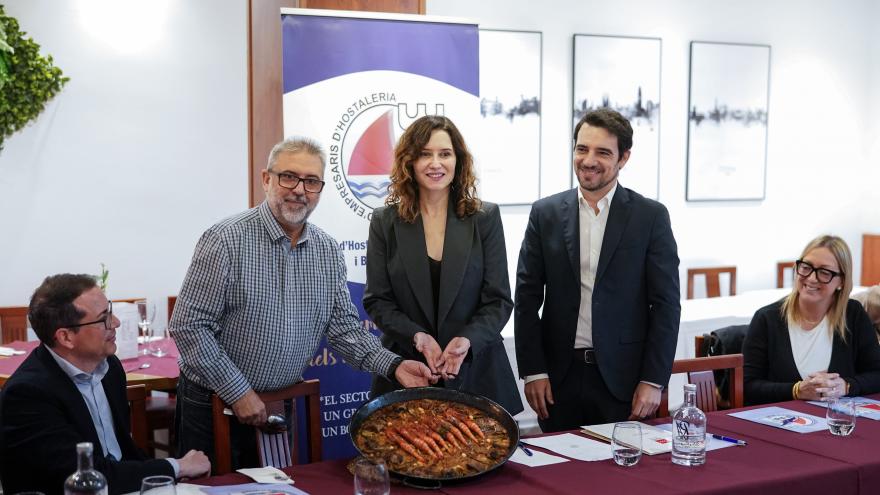
[[[441,386],[522,411],[501,329],[513,302],[498,206],[476,197],[473,158],[451,120],[413,122],[394,151],[386,206],[373,212],[364,309],[382,342]],[[401,388],[377,377],[373,396]]]

